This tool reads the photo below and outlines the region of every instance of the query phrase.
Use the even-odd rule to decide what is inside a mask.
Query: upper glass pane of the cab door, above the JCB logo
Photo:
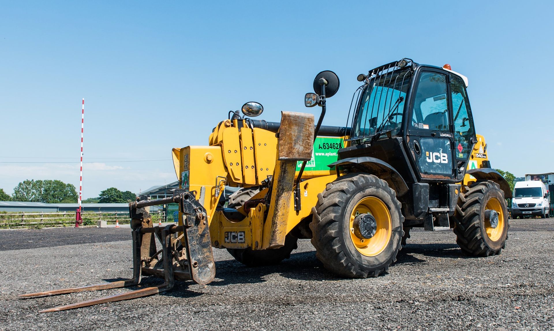
[[[449,131],[447,76],[423,72],[419,77],[413,107],[413,129]]]

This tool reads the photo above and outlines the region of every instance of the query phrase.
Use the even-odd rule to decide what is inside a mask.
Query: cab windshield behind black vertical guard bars
[[[352,138],[399,129],[412,72],[402,70],[372,77],[362,90],[354,117]]]

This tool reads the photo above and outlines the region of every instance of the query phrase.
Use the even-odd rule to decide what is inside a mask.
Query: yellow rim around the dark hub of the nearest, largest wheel
[[[354,220],[356,216],[370,213],[375,217],[376,231],[375,235],[369,239],[360,239],[354,233]],[[350,214],[350,238],[354,247],[365,256],[377,256],[387,247],[392,235],[391,213],[387,205],[381,199],[374,196],[362,198]]]

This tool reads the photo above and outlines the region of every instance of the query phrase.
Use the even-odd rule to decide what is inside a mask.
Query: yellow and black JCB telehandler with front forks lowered
[[[305,96],[306,106],[322,108],[317,124],[311,114],[288,111],[280,123],[255,120],[263,107],[250,102],[244,116],[230,111],[219,122],[208,146],[173,149],[180,188],[129,205],[133,278],[22,297],[135,286],[142,274],[165,279],[42,310],[52,312],[166,291],[175,279],[208,284],[216,274],[212,247],[259,266],[288,258],[298,238],[311,238],[317,258],[338,276],[378,276],[396,261],[412,227],[453,228],[464,252],[498,254],[511,192],[475,134],[468,80],[449,65],[404,58],[358,81],[345,113],[350,126],[321,125],[326,99],[339,87],[325,71]],[[225,186],[239,190],[224,199]],[[153,226],[149,206],[171,202],[179,203],[178,224]]]

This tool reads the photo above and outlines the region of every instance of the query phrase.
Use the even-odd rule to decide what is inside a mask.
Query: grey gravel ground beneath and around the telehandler
[[[506,249],[488,258],[465,257],[452,232],[414,229],[389,272],[368,279],[336,278],[308,240],[275,267],[246,268],[216,249],[217,278],[208,286],[177,282],[169,293],[57,313],[37,310],[126,290],[25,300],[16,295],[130,277],[131,243],[121,238],[129,229],[13,231],[19,246],[0,253],[0,329],[554,329],[554,222],[510,222]],[[86,243],[28,246],[16,232],[29,238],[43,233],[38,237],[44,242],[58,233],[63,238],[55,245],[74,244],[78,234]],[[2,247],[10,240],[6,233],[0,232]]]

